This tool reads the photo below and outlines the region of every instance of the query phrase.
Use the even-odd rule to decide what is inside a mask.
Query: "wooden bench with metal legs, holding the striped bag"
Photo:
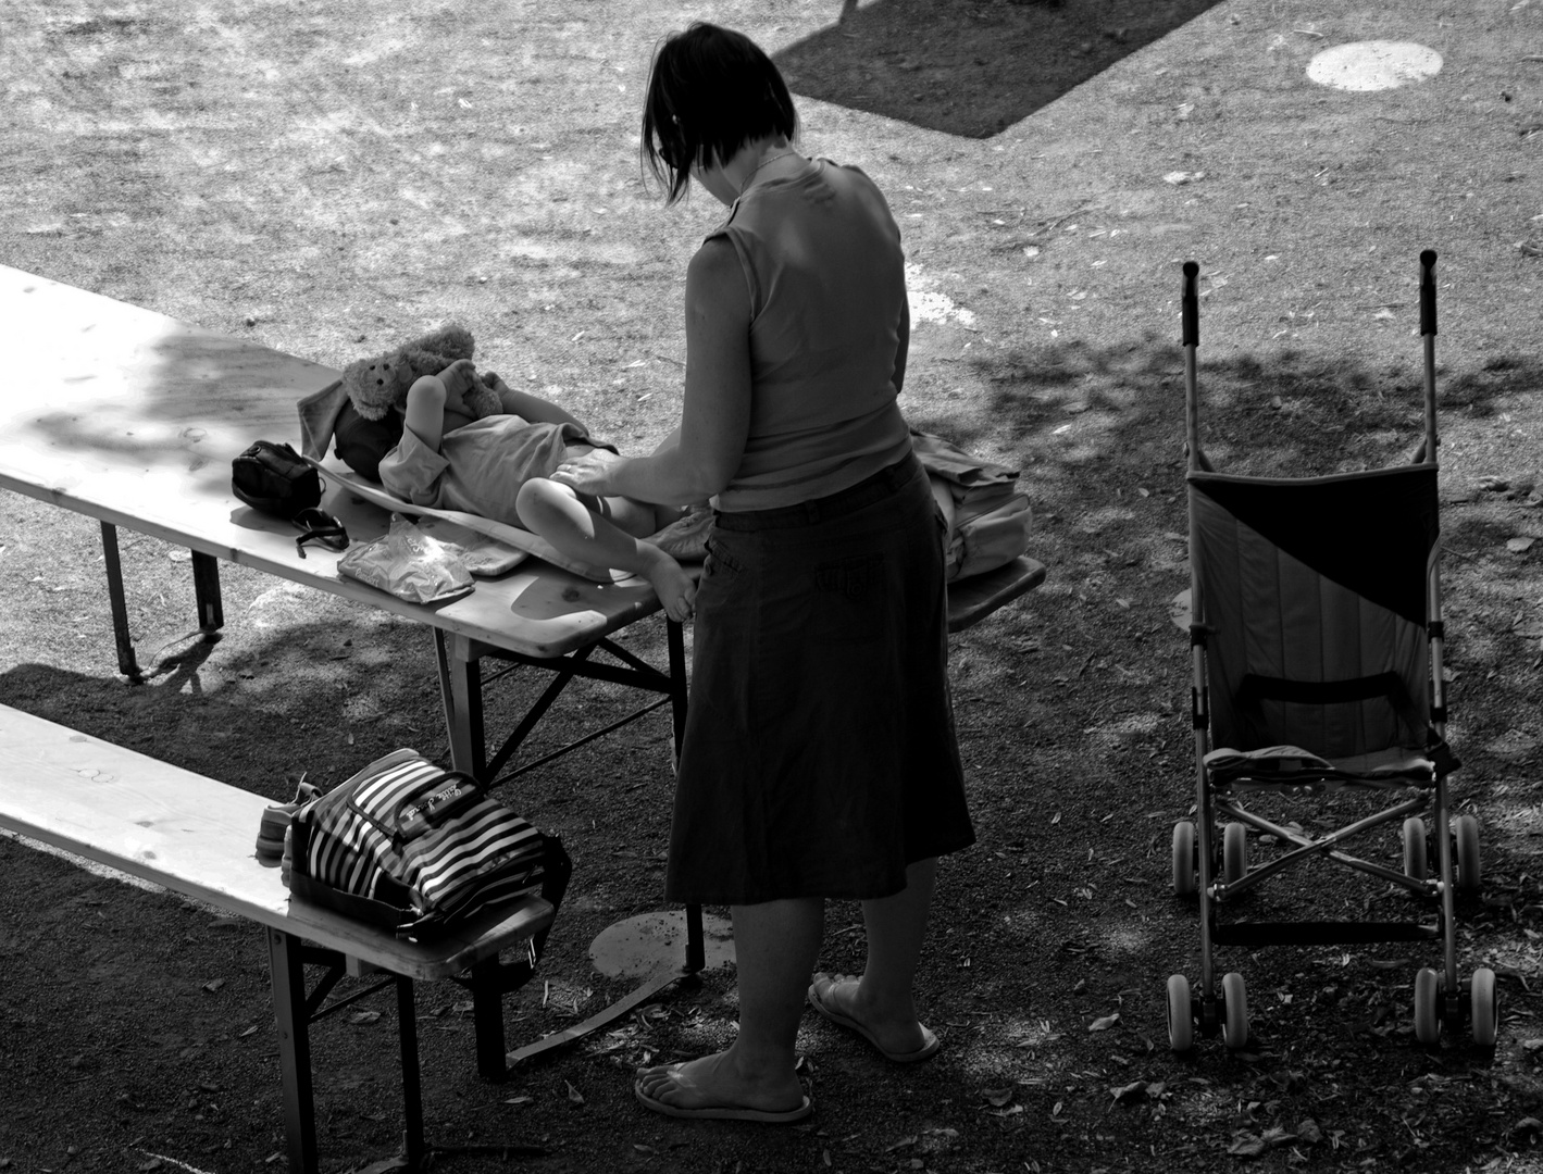
[[[500,966],[500,950],[525,943],[534,956],[552,924],[554,906],[529,896],[455,933],[415,943],[292,902],[279,870],[256,858],[258,825],[268,804],[252,791],[0,705],[0,827],[250,918],[267,930],[292,1171],[318,1169],[309,1024],[341,1006],[322,1004],[344,973],[387,973],[372,990],[397,989],[403,1159],[417,1168],[429,1146],[414,981],[455,978],[486,998],[468,975]],[[327,966],[310,992],[307,963]],[[529,977],[529,963],[520,966]]]

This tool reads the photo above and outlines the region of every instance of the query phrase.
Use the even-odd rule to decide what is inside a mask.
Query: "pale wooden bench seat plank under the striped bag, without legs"
[[[292,901],[256,858],[268,799],[0,705],[0,827],[409,978],[446,978],[552,921],[523,898],[432,941]]]

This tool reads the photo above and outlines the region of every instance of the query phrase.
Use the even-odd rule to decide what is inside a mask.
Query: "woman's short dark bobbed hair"
[[[751,139],[778,134],[798,134],[793,96],[750,37],[699,20],[659,46],[640,153],[670,204],[690,187],[693,164],[728,162]]]

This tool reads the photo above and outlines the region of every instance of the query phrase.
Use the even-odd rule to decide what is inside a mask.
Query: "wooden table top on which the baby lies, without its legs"
[[[339,579],[339,555],[315,543],[301,558],[289,523],[231,494],[230,463],[255,440],[298,450],[296,403],[336,380],[332,367],[5,265],[0,339],[12,367],[0,487],[526,656],[571,653],[660,609],[642,579],[593,583],[539,560],[415,605]],[[335,483],[322,508],[355,541],[390,523]]]

